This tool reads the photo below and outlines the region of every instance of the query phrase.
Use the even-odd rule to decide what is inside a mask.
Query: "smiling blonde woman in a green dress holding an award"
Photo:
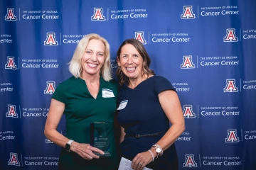
[[[76,47],[69,70],[73,77],[55,89],[44,130],[49,140],[63,147],[59,169],[116,169],[113,119],[117,84],[111,76],[107,40],[97,34],[85,35]],[[56,130],[63,114],[65,136]],[[107,125],[107,153],[90,145],[90,140],[94,140],[93,123]]]

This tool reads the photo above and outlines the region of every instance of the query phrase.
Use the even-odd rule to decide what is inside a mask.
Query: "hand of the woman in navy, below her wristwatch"
[[[152,155],[149,151],[142,152],[136,155],[132,160],[132,169],[142,170],[144,167],[152,161]]]

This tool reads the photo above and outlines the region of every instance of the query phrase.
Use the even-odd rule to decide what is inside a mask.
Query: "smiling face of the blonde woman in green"
[[[82,76],[100,75],[100,68],[104,62],[104,43],[101,40],[90,40],[82,56]]]

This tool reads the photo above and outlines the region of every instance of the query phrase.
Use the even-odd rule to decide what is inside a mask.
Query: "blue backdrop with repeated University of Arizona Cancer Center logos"
[[[1,0],[0,169],[58,169],[43,135],[50,97],[79,40],[98,33],[111,62],[140,40],[171,81],[186,130],[180,169],[256,169],[256,1]],[[58,126],[65,135],[65,117]]]

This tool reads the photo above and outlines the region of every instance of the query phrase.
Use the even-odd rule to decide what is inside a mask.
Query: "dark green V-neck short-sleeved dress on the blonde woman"
[[[113,96],[102,96],[102,89],[113,91]],[[60,153],[59,169],[117,169],[117,153],[114,144],[114,111],[116,110],[117,83],[105,81],[100,77],[100,90],[97,98],[93,98],[87,89],[85,80],[70,77],[60,83],[52,96],[55,100],[65,103],[66,134],[70,140],[79,143],[90,143],[90,123],[112,123],[110,130],[111,157],[100,159],[83,159],[75,152],[67,152],[63,148]]]

